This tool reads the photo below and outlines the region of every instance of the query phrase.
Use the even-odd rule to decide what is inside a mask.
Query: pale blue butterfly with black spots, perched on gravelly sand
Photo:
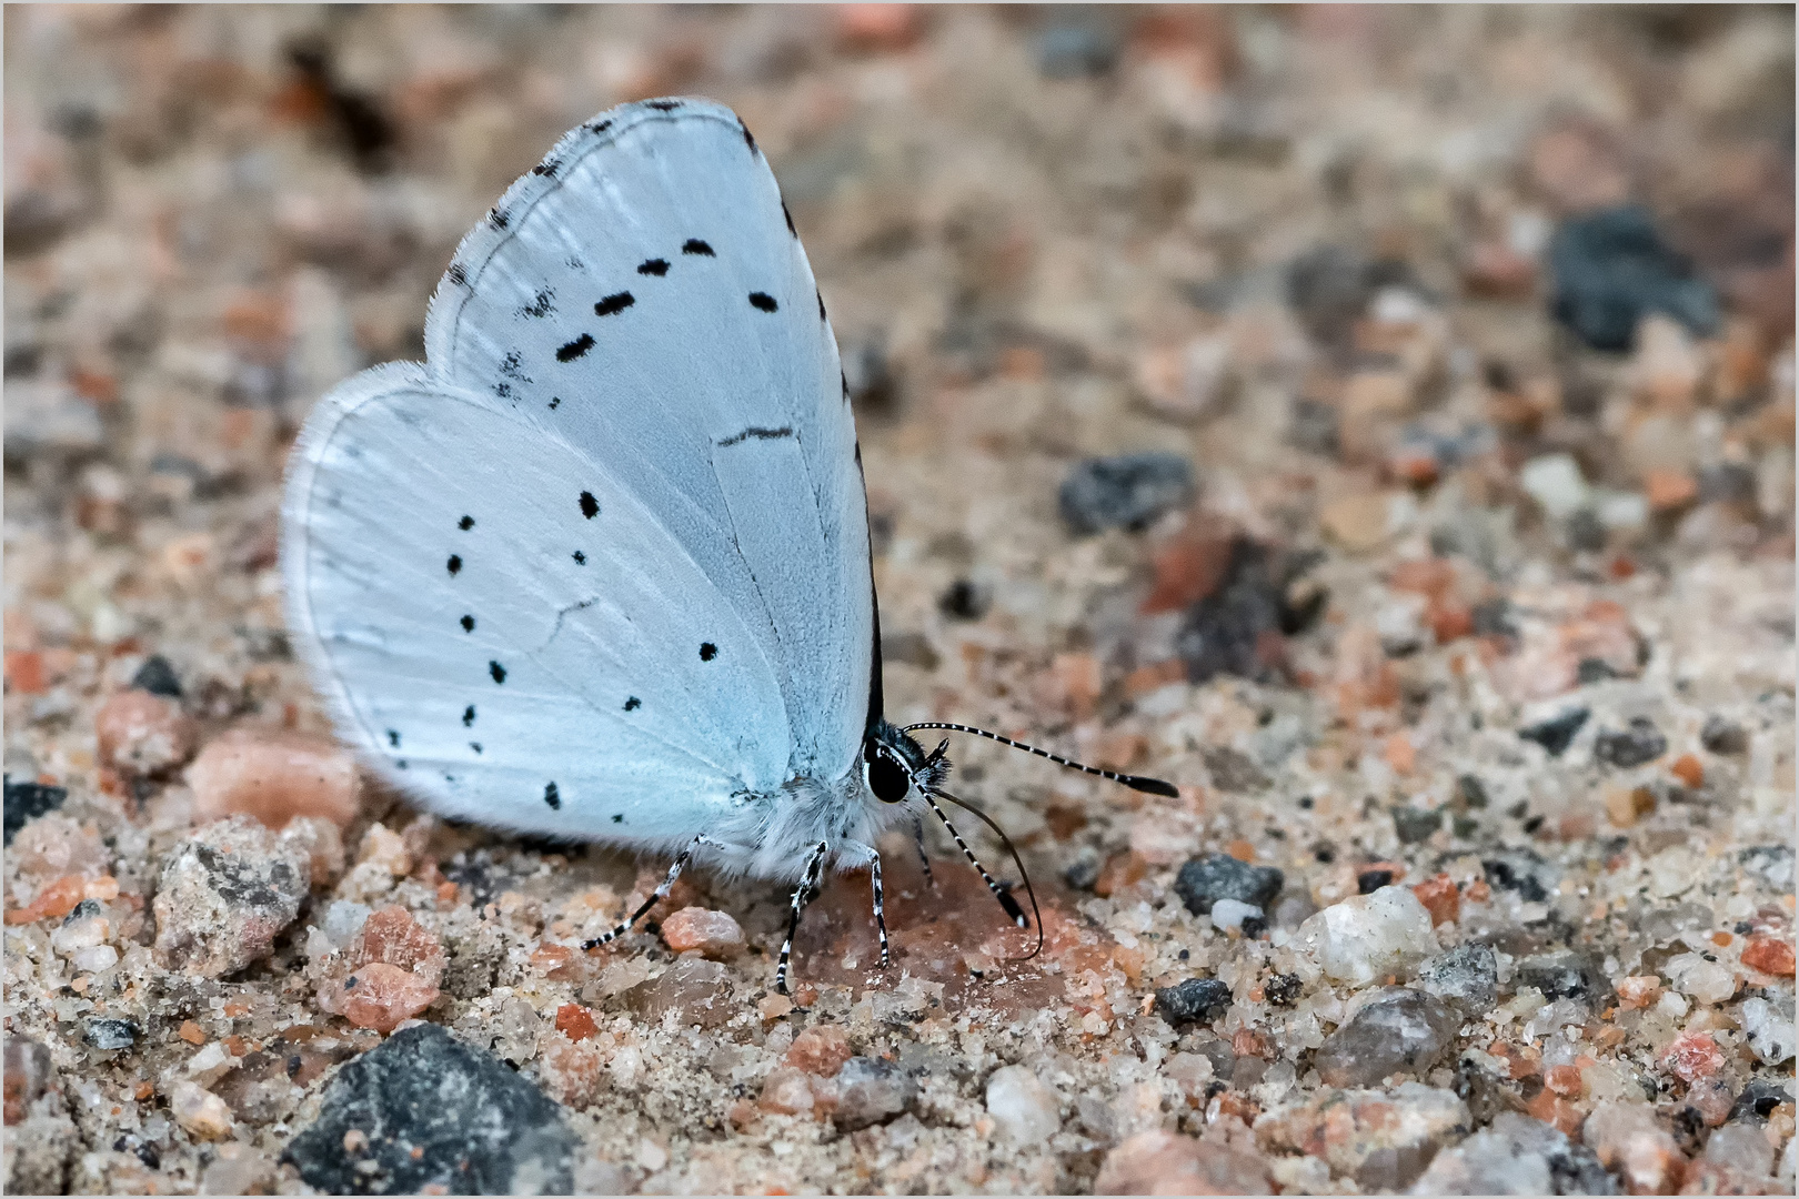
[[[586,947],[689,863],[779,879],[786,990],[801,910],[865,866],[885,967],[874,843],[910,822],[923,852],[926,809],[1027,926],[941,807],[993,825],[944,789],[948,742],[914,732],[1175,795],[883,717],[849,385],[729,108],[644,101],[567,133],[462,239],[425,351],[308,417],[288,624],[344,739],[426,809],[675,854]]]

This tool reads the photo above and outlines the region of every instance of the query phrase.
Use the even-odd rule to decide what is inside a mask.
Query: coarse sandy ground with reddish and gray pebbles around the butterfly
[[[7,9],[9,1190],[1790,1194],[1792,45]],[[889,715],[1180,787],[952,746],[1029,964],[935,834],[934,881],[885,847],[887,973],[865,875],[793,1001],[770,886],[583,955],[666,863],[419,814],[291,654],[308,408],[667,93],[741,113],[819,275]],[[1058,500],[1141,453],[1191,485]]]

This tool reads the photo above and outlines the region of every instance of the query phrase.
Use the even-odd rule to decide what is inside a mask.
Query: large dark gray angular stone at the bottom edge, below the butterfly
[[[362,1147],[349,1150],[353,1129]],[[335,1195],[545,1195],[570,1194],[577,1145],[561,1107],[522,1075],[414,1025],[338,1071],[282,1159]]]

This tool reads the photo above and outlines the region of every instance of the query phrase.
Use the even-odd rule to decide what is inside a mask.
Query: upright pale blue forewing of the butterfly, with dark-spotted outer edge
[[[849,769],[873,620],[855,426],[811,268],[738,119],[660,101],[565,137],[459,250],[426,345],[646,502],[761,624],[793,769]]]

